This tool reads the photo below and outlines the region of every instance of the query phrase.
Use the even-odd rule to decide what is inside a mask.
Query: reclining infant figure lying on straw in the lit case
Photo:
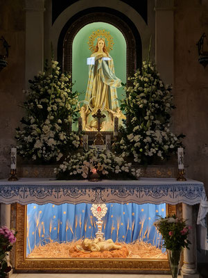
[[[85,238],[81,246],[77,245],[78,250],[88,252],[111,251],[121,248],[121,245],[116,245],[112,239],[101,241],[99,238],[95,238],[94,240]]]

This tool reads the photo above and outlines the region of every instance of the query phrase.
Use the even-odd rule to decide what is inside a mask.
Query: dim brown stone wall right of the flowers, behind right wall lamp
[[[205,183],[208,195],[208,66],[198,63],[196,43],[208,37],[208,1],[175,0],[174,129],[184,133],[189,178]]]

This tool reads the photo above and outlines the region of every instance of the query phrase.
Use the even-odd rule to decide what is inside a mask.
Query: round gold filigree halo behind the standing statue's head
[[[97,30],[92,32],[92,34],[89,36],[89,40],[88,40],[88,44],[89,44],[89,49],[94,52],[95,51],[95,45],[94,45],[94,41],[98,38],[102,38],[103,40],[105,40],[105,45],[106,45],[106,49],[107,52],[110,52],[113,48],[114,45],[114,41],[112,36],[110,35],[110,32],[107,32],[105,29],[103,30]],[[106,43],[107,41],[107,43]]]

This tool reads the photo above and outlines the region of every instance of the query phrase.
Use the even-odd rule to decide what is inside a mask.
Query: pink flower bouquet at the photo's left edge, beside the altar
[[[6,256],[7,252],[12,250],[13,243],[16,242],[17,232],[8,229],[8,227],[0,227],[0,277],[6,277],[7,273],[12,269],[8,265]]]

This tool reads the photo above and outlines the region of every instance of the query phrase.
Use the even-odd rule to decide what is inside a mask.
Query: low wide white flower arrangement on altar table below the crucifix
[[[105,176],[105,179],[110,177],[116,179],[116,176],[137,179],[140,169],[135,170],[131,166],[132,163],[126,163],[121,155],[116,156],[110,151],[91,149],[83,154],[76,153],[68,156],[58,168],[54,169],[54,172],[58,179],[87,179],[94,169],[101,176]]]

